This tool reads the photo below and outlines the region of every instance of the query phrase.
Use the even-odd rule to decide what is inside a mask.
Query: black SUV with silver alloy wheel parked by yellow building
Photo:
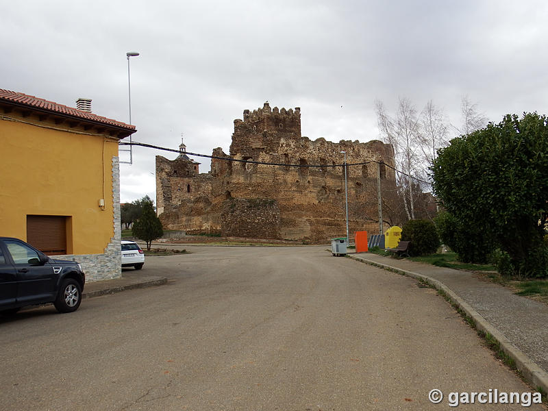
[[[54,260],[22,240],[0,237],[0,314],[44,303],[59,312],[76,311],[85,282],[77,262]]]

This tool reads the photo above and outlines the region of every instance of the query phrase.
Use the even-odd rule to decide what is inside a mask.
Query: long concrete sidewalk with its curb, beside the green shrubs
[[[523,376],[548,393],[548,306],[514,295],[508,288],[484,282],[469,271],[446,269],[373,253],[349,258],[423,279],[443,290],[471,316],[477,329],[491,334],[512,357]]]

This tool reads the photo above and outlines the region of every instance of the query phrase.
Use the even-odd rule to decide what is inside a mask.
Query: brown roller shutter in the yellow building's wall
[[[27,242],[50,256],[66,254],[66,217],[27,216]]]

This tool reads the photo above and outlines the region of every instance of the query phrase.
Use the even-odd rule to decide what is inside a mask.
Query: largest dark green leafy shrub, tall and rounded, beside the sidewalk
[[[457,247],[451,248],[460,260],[482,262],[501,249],[514,275],[547,275],[546,116],[506,115],[499,124],[453,138],[430,170],[434,195],[456,221]]]

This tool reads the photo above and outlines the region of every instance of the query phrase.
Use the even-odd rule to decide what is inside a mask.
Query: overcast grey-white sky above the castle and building
[[[375,99],[432,99],[457,126],[464,96],[490,121],[548,114],[547,22],[545,0],[1,1],[0,88],[127,123],[136,51],[135,141],[229,153],[234,119],[268,100],[300,107],[312,140],[364,142]],[[121,164],[122,202],[155,199],[155,155],[176,157]]]

